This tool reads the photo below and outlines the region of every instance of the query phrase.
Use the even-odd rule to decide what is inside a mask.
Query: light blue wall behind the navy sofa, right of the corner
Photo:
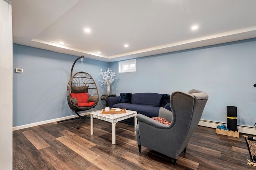
[[[238,125],[256,122],[256,39],[137,58],[137,71],[117,72],[113,93],[189,91],[209,95],[202,119],[226,123],[226,106],[236,106]]]

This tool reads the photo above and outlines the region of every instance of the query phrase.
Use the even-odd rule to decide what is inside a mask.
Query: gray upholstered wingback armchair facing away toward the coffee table
[[[170,96],[172,111],[159,110],[158,117],[170,121],[170,125],[164,125],[142,114],[137,115],[136,127],[139,152],[141,145],[174,159],[176,164],[178,155],[186,152],[188,141],[196,129],[208,95],[199,90],[190,90],[188,93],[174,91]]]

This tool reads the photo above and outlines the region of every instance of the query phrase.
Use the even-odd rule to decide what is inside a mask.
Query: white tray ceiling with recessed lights
[[[256,0],[12,0],[12,26],[14,43],[112,62],[256,38]]]

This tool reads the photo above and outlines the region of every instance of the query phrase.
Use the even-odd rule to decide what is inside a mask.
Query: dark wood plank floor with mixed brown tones
[[[112,145],[111,123],[90,119],[80,130],[79,120],[48,123],[13,131],[14,170],[248,170],[250,159],[243,134],[240,138],[215,134],[214,128],[196,128],[186,154],[172,159],[142,146],[138,153],[134,127],[116,124],[116,144]]]

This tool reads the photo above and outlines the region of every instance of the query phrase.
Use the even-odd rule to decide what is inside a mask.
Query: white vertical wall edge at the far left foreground
[[[12,169],[12,1],[0,0],[0,170]]]

